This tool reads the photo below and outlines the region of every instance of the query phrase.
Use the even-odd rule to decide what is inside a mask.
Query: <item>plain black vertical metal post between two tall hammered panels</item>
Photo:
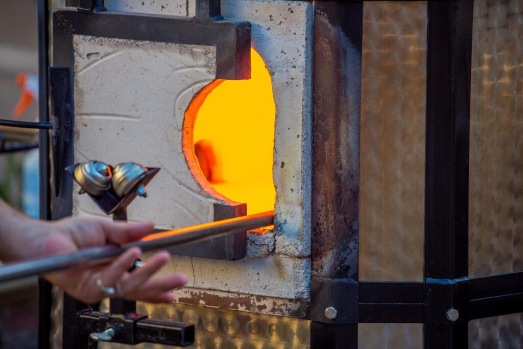
[[[468,346],[453,280],[468,276],[470,74],[473,1],[429,1],[425,186],[425,348]],[[462,310],[462,312],[464,312]],[[468,314],[463,314],[467,318]]]

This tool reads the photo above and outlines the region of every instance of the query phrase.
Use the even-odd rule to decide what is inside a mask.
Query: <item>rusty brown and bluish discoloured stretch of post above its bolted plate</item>
[[[328,14],[314,23],[312,273],[357,274],[361,38]],[[359,40],[359,42],[358,42]]]

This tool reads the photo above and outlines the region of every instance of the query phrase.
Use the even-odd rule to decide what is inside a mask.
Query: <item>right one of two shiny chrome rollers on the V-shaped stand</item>
[[[116,195],[124,197],[137,186],[143,179],[147,169],[140,164],[134,162],[124,162],[115,166],[112,172],[112,188]],[[141,189],[140,189],[141,188]],[[137,194],[145,196],[145,188],[140,186]]]

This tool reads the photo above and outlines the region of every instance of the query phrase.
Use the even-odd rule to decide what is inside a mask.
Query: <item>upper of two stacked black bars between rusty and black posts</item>
[[[358,283],[358,299],[362,303],[423,303],[423,282],[368,282]]]

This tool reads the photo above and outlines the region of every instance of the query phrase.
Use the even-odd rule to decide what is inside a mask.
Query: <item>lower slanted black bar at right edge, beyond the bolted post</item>
[[[523,312],[523,292],[472,299],[469,311],[471,320]]]

